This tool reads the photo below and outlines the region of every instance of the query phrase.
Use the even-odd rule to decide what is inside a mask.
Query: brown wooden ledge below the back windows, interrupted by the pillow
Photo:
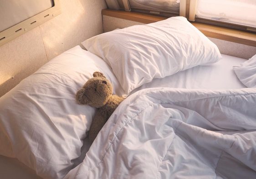
[[[116,17],[120,19],[132,20],[144,24],[157,22],[167,19],[167,17],[157,15],[147,15],[139,12],[127,12],[122,10],[102,10],[102,15]],[[238,44],[245,44],[256,47],[256,34],[237,29],[229,29],[225,27],[219,27],[216,25],[203,24],[199,22],[191,22],[197,29],[199,29],[207,37],[215,39],[226,40],[235,42]]]

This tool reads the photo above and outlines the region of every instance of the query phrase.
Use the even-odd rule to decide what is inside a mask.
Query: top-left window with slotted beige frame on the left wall
[[[59,0],[0,0],[0,45],[60,13]]]

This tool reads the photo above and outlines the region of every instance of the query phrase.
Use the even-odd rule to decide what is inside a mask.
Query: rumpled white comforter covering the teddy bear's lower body
[[[138,91],[65,179],[255,179],[256,88]]]

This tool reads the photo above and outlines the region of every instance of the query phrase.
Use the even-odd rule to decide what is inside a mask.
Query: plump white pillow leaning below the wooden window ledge
[[[184,17],[114,30],[82,45],[111,66],[127,94],[153,78],[221,58],[217,46]]]

